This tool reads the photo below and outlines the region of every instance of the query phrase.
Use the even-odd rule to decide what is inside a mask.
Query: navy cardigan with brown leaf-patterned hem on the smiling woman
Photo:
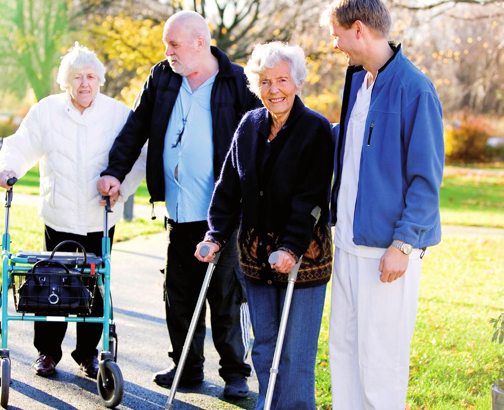
[[[332,268],[329,198],[334,143],[329,122],[296,96],[276,136],[285,141],[267,184],[261,186],[258,148],[266,143],[271,123],[265,108],[241,120],[210,203],[206,238],[224,245],[241,214],[238,242],[245,275],[268,284],[285,283],[287,275],[272,272],[268,264],[269,254],[283,247],[296,257],[304,254],[296,286],[326,283]],[[322,212],[313,228],[310,212],[317,205]]]

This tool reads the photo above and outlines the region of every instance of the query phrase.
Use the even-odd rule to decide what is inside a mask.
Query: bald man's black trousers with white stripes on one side
[[[194,257],[196,245],[203,239],[206,221],[167,222],[167,259],[165,268],[166,324],[172,351],[168,355],[175,365],[182,353],[185,337],[193,317],[208,264]],[[230,377],[250,376],[245,363],[248,353],[249,325],[242,274],[239,269],[236,233],[224,248],[212,275],[207,291],[210,306],[212,338],[220,356],[219,374]],[[205,311],[203,305],[193,342],[187,354],[184,375],[203,372],[205,340]]]

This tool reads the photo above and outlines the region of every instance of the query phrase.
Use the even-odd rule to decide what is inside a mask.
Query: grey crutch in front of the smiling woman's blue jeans
[[[320,207],[315,207],[311,211],[311,216],[315,218],[315,225],[320,218]],[[271,265],[275,265],[278,261],[278,253],[273,252],[268,259]],[[301,257],[302,258],[302,257]],[[266,400],[264,402],[264,410],[270,410],[271,401],[273,400],[273,392],[275,390],[275,381],[277,380],[278,367],[280,364],[280,354],[282,353],[282,345],[285,337],[285,329],[287,327],[287,320],[289,318],[290,302],[292,300],[292,293],[294,292],[294,282],[297,279],[297,272],[299,271],[299,266],[301,266],[301,258],[294,268],[289,272],[289,278],[287,280],[287,291],[285,292],[284,307],[282,310],[282,317],[280,318],[280,326],[278,328],[277,345],[275,346],[275,353],[273,354],[273,364],[270,369],[270,380],[268,382],[268,390],[266,391]]]

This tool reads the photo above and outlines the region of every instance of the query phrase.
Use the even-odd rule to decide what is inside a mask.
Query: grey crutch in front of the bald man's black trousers
[[[201,246],[200,255],[202,255],[202,257],[206,257],[209,250],[210,249],[207,245]],[[166,401],[166,404],[164,405],[164,408],[166,409],[173,408],[173,399],[175,398],[175,393],[177,392],[178,383],[180,382],[180,377],[182,376],[182,370],[187,358],[187,353],[189,351],[189,347],[191,346],[191,342],[193,341],[193,336],[196,330],[196,325],[198,323],[198,318],[200,317],[201,308],[203,307],[203,303],[205,303],[208,286],[210,285],[210,279],[212,278],[212,273],[214,272],[215,265],[219,260],[219,256],[220,252],[215,252],[214,260],[208,264],[207,273],[205,274],[205,279],[203,279],[203,285],[201,286],[200,296],[198,297],[198,302],[196,303],[193,319],[191,319],[191,325],[189,326],[189,331],[187,332],[187,336],[185,337],[184,347],[182,348],[182,353],[180,354],[175,377],[173,378],[170,395],[168,396],[168,401]]]

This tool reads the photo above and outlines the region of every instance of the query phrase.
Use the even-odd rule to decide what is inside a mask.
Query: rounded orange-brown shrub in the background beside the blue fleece
[[[492,128],[483,116],[466,115],[445,127],[447,162],[486,161]]]

